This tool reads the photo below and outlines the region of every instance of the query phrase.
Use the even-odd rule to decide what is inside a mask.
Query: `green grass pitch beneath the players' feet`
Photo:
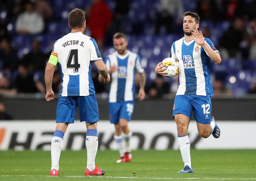
[[[130,163],[116,163],[118,151],[98,150],[103,176],[84,176],[86,150],[62,151],[60,176],[50,177],[50,151],[0,151],[1,181],[48,180],[256,180],[256,150],[191,150],[194,173],[180,174],[179,150],[134,150]]]

